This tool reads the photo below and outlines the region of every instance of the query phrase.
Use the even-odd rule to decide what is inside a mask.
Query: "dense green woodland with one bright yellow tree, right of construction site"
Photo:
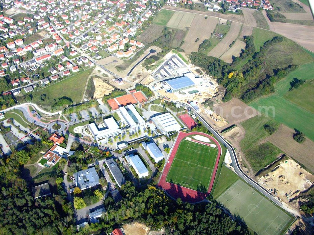
[[[199,52],[192,52],[191,62],[216,77],[219,84],[226,88],[224,101],[237,97],[248,103],[259,96],[273,93],[273,84],[296,68],[290,65],[275,69],[273,65],[267,63],[267,51],[271,46],[282,42],[282,37],[276,36],[266,41],[259,52],[255,52],[253,36],[246,36],[245,41],[245,50],[231,64]],[[236,70],[237,64],[250,56],[252,59],[241,69]]]

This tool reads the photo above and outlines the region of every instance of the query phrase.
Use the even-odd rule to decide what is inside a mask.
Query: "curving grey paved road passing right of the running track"
[[[178,102],[180,103],[180,102]],[[274,203],[276,203],[278,206],[283,207],[283,204],[276,198],[273,197],[273,195],[271,195],[270,193],[268,193],[268,190],[266,190],[265,188],[263,188],[261,185],[257,184],[251,177],[247,176],[241,169],[240,164],[238,162],[238,159],[236,157],[236,152],[234,150],[234,148],[227,142],[225,141],[225,139],[217,132],[215,131],[211,126],[208,125],[208,123],[203,119],[203,117],[201,115],[199,115],[192,106],[189,106],[187,104],[184,103],[180,103],[182,105],[184,105],[185,107],[189,107],[191,108],[195,115],[198,117],[199,120],[201,120],[201,122],[204,124],[204,126],[206,126],[206,128],[212,132],[214,134],[214,136],[221,142],[224,144],[224,146],[228,149],[228,151],[230,152],[230,156],[232,159],[232,163],[231,165],[233,166],[233,168],[235,169],[235,172],[237,175],[239,175],[242,179],[244,179],[247,183],[249,183],[251,186],[253,186],[256,190],[258,190],[260,193],[262,193],[263,195],[265,195],[266,197],[268,197],[270,200],[272,200]]]

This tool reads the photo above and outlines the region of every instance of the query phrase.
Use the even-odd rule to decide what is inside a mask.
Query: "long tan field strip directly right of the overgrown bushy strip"
[[[232,22],[227,35],[214,47],[213,50],[209,51],[208,56],[214,56],[217,58],[222,56],[222,54],[230,48],[230,44],[236,40],[240,33],[240,29],[241,24]]]

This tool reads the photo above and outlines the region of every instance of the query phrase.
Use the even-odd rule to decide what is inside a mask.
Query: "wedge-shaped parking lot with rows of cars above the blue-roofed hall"
[[[180,76],[180,71],[186,71],[187,65],[176,55],[173,55],[160,66],[153,74],[153,77],[159,80],[164,80],[172,77]]]

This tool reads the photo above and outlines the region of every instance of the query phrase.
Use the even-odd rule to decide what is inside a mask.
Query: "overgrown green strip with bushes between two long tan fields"
[[[228,34],[230,24],[230,21],[226,24],[217,24],[211,37],[200,44],[198,51],[207,55]]]

